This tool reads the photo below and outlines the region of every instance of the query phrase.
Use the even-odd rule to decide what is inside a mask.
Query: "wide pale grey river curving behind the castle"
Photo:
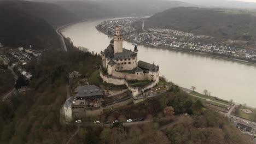
[[[97,31],[96,25],[103,20],[80,22],[61,30],[71,38],[75,46],[101,52],[112,37]],[[133,45],[124,41],[126,49]],[[185,88],[195,86],[197,92],[207,89],[218,98],[256,107],[256,66],[195,53],[157,49],[138,45],[138,58],[158,64],[160,75]]]

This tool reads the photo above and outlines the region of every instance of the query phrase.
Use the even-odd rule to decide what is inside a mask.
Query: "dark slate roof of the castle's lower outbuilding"
[[[101,92],[101,89],[95,85],[79,86],[75,89],[76,98],[85,98],[98,95],[103,95],[103,93]]]

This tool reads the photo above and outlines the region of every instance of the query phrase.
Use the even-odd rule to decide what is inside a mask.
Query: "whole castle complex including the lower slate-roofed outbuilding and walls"
[[[159,82],[159,66],[143,61],[138,61],[137,45],[132,50],[123,48],[123,35],[121,35],[121,27],[116,27],[114,38],[110,41],[107,49],[101,52],[102,67],[100,68],[100,76],[103,82],[113,83],[114,85],[126,85],[127,89],[120,91],[111,97],[117,97],[122,100],[116,104],[103,105],[106,96],[100,87],[95,85],[78,86],[74,95],[68,98],[62,106],[61,112],[66,122],[72,122],[74,118],[83,116],[101,115],[103,109],[111,109],[122,103],[139,103],[148,97],[153,97],[159,92],[165,92],[160,88],[150,90]],[[69,74],[69,80],[79,77],[77,71]],[[147,85],[142,87],[133,87],[127,80],[148,80]],[[150,90],[150,91],[149,91]],[[147,93],[147,94],[146,94]],[[128,96],[127,98],[126,95]],[[124,97],[124,98],[121,98]]]

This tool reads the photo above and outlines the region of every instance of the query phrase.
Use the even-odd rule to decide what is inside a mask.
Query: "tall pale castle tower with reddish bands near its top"
[[[114,35],[114,53],[123,52],[123,35],[121,35],[121,26],[115,27]]]

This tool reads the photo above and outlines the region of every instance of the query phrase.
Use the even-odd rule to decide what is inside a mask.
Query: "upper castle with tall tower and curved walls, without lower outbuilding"
[[[100,74],[103,81],[114,85],[127,85],[133,97],[154,87],[159,82],[159,66],[138,61],[137,45],[133,51],[123,48],[121,26],[115,28],[114,38],[110,41],[107,49],[101,52],[101,56],[102,67],[107,73],[107,75]],[[126,80],[149,80],[150,84],[148,87],[134,88],[129,86]]]

